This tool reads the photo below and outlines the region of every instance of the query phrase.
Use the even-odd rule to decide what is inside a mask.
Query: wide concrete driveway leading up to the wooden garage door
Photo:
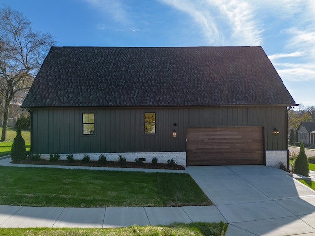
[[[187,172],[229,223],[226,236],[315,235],[315,191],[267,166],[199,166]]]

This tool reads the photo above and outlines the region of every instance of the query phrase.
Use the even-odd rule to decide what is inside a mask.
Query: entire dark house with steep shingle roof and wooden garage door
[[[294,105],[261,47],[52,47],[23,103],[42,156],[278,168]]]

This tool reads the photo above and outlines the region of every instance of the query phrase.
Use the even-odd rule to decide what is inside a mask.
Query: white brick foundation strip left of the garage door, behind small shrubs
[[[81,160],[85,153],[73,154],[73,158]],[[125,152],[125,153],[86,153],[91,161],[98,161],[99,155],[106,155],[107,161],[117,161],[118,156],[122,155],[127,162],[135,162],[136,158],[145,158],[145,163],[151,163],[152,158],[157,157],[158,163],[167,163],[167,160],[173,158],[178,165],[186,167],[186,152]],[[60,154],[60,160],[66,160],[68,154]],[[49,154],[40,156],[44,159],[49,159]]]

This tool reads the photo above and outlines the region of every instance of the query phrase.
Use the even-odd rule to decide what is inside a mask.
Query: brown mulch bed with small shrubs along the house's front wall
[[[46,159],[39,159],[38,161],[32,161],[27,158],[23,161],[12,161],[13,164],[32,164],[32,165],[56,165],[56,166],[91,166],[91,167],[118,167],[118,168],[146,168],[146,169],[167,169],[167,170],[185,170],[183,166],[180,165],[169,165],[164,163],[158,163],[153,165],[152,163],[142,163],[137,166],[135,162],[126,162],[125,165],[121,166],[117,161],[107,161],[106,165],[101,165],[98,161],[89,161],[89,163],[83,163],[82,160],[74,160],[74,162],[69,163],[67,160],[58,160],[55,162],[48,161]]]

